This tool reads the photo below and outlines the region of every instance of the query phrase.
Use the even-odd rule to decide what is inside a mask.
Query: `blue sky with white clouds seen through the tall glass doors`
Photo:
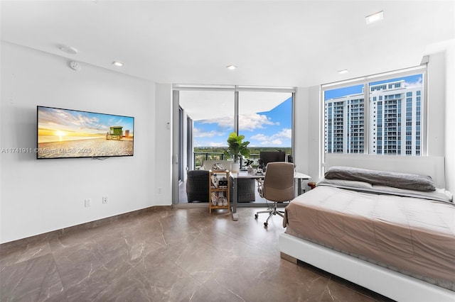
[[[289,97],[271,111],[259,111],[239,117],[239,134],[251,147],[291,147],[292,99]],[[234,130],[232,117],[194,121],[194,147],[227,146]]]

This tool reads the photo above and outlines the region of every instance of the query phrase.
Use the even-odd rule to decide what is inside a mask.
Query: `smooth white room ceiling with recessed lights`
[[[160,83],[314,86],[419,65],[454,3],[1,0],[1,40]]]

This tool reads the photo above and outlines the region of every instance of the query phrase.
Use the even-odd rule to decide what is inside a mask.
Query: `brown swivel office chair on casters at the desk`
[[[284,211],[277,210],[277,203],[291,201],[294,199],[294,164],[290,162],[269,162],[264,180],[258,180],[257,191],[266,201],[273,201],[274,205],[269,206],[267,211],[259,211],[255,214],[257,219],[260,213],[269,213],[264,226],[269,225],[269,219],[273,215],[284,217]]]

